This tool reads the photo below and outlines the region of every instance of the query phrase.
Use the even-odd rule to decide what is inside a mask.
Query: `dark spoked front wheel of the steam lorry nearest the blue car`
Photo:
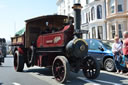
[[[84,60],[83,74],[88,79],[96,79],[100,74],[100,65],[93,57],[86,57]]]

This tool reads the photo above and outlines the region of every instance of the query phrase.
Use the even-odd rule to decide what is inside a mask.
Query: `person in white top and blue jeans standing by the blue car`
[[[112,45],[112,52],[114,55],[116,73],[123,74],[123,68],[120,65],[122,61],[122,43],[119,41],[118,35],[115,35],[114,37],[114,43]]]

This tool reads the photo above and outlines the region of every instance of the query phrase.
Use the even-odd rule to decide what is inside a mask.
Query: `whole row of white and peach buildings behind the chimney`
[[[113,40],[128,30],[128,0],[79,0],[83,6],[81,28],[87,30],[83,38]],[[73,16],[76,0],[57,0],[58,14]]]

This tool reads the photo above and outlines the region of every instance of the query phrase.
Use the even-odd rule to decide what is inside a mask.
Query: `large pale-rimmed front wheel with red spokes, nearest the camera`
[[[54,59],[52,73],[55,79],[60,83],[65,83],[70,74],[70,66],[66,57],[57,56]]]

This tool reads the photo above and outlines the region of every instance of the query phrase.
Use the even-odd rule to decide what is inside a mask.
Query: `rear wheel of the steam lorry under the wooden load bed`
[[[19,51],[15,51],[14,53],[14,68],[17,72],[22,72],[24,68],[24,57]]]

